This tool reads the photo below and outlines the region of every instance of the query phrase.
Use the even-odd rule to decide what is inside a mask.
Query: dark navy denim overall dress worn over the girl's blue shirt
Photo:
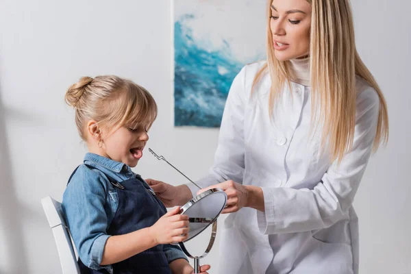
[[[86,166],[90,169],[97,169],[88,164]],[[140,176],[136,175],[136,177],[121,183],[116,182],[108,175],[106,176],[110,183],[116,187],[119,195],[119,207],[108,227],[108,235],[122,235],[150,227],[166,213],[166,208],[162,202],[155,197],[151,188]],[[105,269],[99,271],[89,269],[80,258],[78,264],[82,274],[108,274]],[[169,262],[163,252],[163,245],[151,247],[151,249],[142,251],[126,260],[112,264],[112,266],[114,274],[171,274]]]

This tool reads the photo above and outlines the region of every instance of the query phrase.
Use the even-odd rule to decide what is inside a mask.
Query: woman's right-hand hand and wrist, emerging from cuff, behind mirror
[[[241,208],[255,208],[264,212],[264,195],[258,186],[243,186],[232,180],[214,184],[197,192],[199,195],[210,188],[221,188],[227,194],[227,204],[221,213],[237,212]]]

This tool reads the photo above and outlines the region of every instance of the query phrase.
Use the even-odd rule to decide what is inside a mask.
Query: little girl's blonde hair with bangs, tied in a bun
[[[113,132],[136,123],[149,128],[157,116],[157,104],[145,88],[114,75],[82,77],[70,86],[64,99],[75,109],[75,123],[83,140],[87,140],[89,120]]]

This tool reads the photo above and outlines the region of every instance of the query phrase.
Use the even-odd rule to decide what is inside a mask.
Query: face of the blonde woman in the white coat
[[[311,10],[306,0],[271,2],[270,29],[277,60],[291,60],[310,53]]]

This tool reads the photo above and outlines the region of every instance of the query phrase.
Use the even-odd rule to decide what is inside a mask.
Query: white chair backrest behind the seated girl
[[[50,196],[41,199],[41,203],[53,232],[63,274],[79,274],[80,270],[75,250],[73,249],[73,243],[71,242],[69,228],[64,221],[62,203],[55,201]]]

